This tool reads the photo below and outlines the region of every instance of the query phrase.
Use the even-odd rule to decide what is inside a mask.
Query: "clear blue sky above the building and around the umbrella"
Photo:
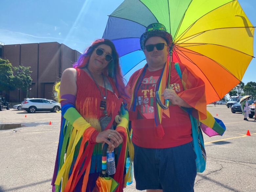
[[[5,44],[64,43],[83,52],[101,38],[108,16],[123,0],[1,0],[0,41]],[[256,26],[256,0],[240,0]],[[239,37],[238,37],[239,38]],[[256,51],[254,39],[254,55]],[[242,81],[256,81],[253,58]]]

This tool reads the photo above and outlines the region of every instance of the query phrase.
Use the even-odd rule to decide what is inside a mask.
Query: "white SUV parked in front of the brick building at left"
[[[27,98],[21,103],[21,110],[25,110],[29,113],[35,113],[36,111],[53,111],[58,112],[61,109],[59,103],[53,103],[47,99],[41,98]]]

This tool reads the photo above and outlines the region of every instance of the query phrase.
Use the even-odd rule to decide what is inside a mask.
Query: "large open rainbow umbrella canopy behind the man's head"
[[[126,78],[146,63],[139,38],[158,22],[173,36],[172,61],[205,82],[207,103],[240,83],[253,58],[254,27],[237,0],[125,0],[109,16],[103,38],[115,44]]]

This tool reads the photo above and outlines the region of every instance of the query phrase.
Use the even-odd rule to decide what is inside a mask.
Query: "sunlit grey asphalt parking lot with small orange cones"
[[[226,132],[204,135],[207,165],[197,175],[195,192],[255,192],[256,121],[244,121],[242,113],[233,114],[225,105],[208,105],[207,110],[223,120]],[[3,110],[0,123],[25,125],[0,130],[0,192],[51,191],[60,113]],[[135,181],[124,191],[137,191]]]

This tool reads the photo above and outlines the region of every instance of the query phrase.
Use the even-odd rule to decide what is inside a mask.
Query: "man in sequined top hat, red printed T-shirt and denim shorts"
[[[127,92],[133,96],[129,114],[135,148],[136,189],[147,192],[194,191],[196,154],[191,142],[191,121],[189,114],[181,109],[191,106],[180,97],[184,89],[174,63],[171,63],[169,89],[165,89],[161,95],[171,103],[168,109],[163,110],[161,117],[163,136],[158,137],[156,131],[155,93],[168,62],[171,44],[172,36],[162,24],[149,25],[140,37],[140,46],[145,53],[147,64],[130,77],[126,86]],[[191,87],[194,91],[199,91],[197,87],[202,91],[204,82],[183,64],[180,63],[179,66],[181,72],[186,71],[190,79],[193,79],[195,85]],[[134,89],[134,86],[137,89]],[[198,93],[199,98],[203,94]]]

